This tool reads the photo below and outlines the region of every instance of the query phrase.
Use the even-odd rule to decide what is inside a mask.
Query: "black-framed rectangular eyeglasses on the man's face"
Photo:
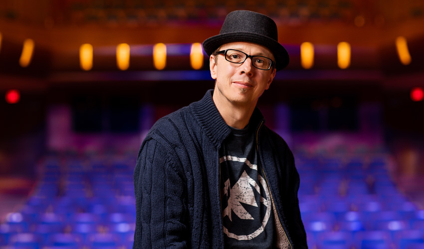
[[[225,60],[241,64],[243,63],[247,58],[250,58],[252,60],[252,65],[260,70],[269,70],[272,66],[274,66],[274,62],[269,59],[268,57],[259,56],[259,55],[248,55],[244,52],[235,50],[235,49],[225,49],[219,51],[217,54],[223,54],[225,55]]]

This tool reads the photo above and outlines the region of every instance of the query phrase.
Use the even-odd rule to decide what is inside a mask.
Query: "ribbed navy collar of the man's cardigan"
[[[208,90],[200,101],[190,104],[190,108],[212,143],[216,148],[219,148],[225,137],[231,132],[231,129],[219,114],[213,102],[212,94],[213,89]],[[255,107],[249,124],[257,127],[261,121],[264,121],[263,116],[259,109]]]

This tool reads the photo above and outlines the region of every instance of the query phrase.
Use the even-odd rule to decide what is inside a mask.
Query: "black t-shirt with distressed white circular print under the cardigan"
[[[271,197],[258,163],[254,128],[231,128],[219,150],[225,248],[273,246]]]

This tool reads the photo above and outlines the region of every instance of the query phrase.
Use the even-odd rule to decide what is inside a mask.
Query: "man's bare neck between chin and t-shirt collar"
[[[216,109],[218,109],[224,122],[233,128],[242,129],[249,124],[250,117],[256,107],[256,103],[250,105],[242,105],[232,103],[224,98],[219,97],[216,94],[216,90],[213,92],[213,102],[215,103]]]

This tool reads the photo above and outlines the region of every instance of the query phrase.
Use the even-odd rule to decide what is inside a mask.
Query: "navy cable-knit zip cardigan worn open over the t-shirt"
[[[160,119],[146,135],[134,170],[134,249],[223,248],[218,150],[230,129],[212,93]],[[252,120],[257,126],[262,122],[258,109]],[[290,245],[307,248],[293,155],[284,140],[266,126],[260,129],[258,144]]]

